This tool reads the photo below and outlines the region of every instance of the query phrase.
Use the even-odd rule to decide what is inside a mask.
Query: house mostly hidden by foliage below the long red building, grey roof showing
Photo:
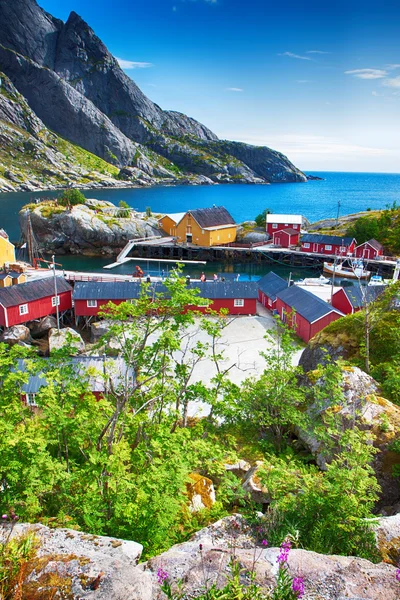
[[[43,361],[43,359],[41,360]],[[133,371],[127,369],[121,357],[71,356],[66,359],[65,366],[72,368],[77,376],[87,381],[88,389],[98,400],[111,389],[117,391],[119,386],[126,385],[129,381],[133,383]],[[16,370],[21,373],[27,372],[24,360],[18,360]],[[24,377],[21,378],[21,400],[28,406],[37,407],[37,395],[46,385],[45,369],[35,371],[31,365],[27,381],[25,382]]]

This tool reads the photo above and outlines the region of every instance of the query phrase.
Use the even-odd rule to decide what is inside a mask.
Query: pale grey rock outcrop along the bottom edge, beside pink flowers
[[[13,535],[27,530],[39,540],[39,561],[23,585],[29,584],[30,589],[41,585],[43,593],[40,576],[58,574],[69,589],[69,597],[76,600],[159,600],[159,569],[168,574],[173,590],[180,580],[186,597],[195,598],[205,585],[224,585],[233,555],[245,571],[254,569],[255,582],[266,593],[274,586],[277,574],[279,549],[258,545],[240,515],[226,517],[197,532],[188,542],[139,565],[141,546],[135,542],[26,524],[16,525]],[[0,529],[0,539],[6,535],[7,530]],[[303,600],[399,598],[396,568],[389,564],[291,550],[288,567],[293,577],[304,579]]]

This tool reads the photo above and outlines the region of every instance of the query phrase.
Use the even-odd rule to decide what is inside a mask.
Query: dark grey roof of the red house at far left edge
[[[72,287],[63,277],[56,277],[56,279],[58,294],[72,290]],[[27,281],[26,283],[0,289],[0,304],[8,308],[9,306],[18,306],[19,304],[33,302],[34,300],[49,296],[54,296],[53,277]]]

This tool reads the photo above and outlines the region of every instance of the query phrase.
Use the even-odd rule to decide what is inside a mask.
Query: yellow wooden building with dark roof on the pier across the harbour
[[[164,215],[160,228],[179,243],[219,246],[236,240],[236,223],[223,206]]]

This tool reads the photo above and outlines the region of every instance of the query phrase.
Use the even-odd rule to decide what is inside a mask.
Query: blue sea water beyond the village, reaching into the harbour
[[[400,200],[400,174],[386,173],[335,173],[313,172],[323,181],[286,183],[273,185],[211,185],[211,186],[160,186],[153,188],[126,188],[83,190],[88,198],[109,200],[118,204],[120,200],[133,208],[144,211],[150,207],[155,213],[181,212],[190,208],[225,206],[237,222],[254,219],[265,208],[275,213],[302,214],[317,221],[336,217],[338,202],[340,214],[350,214],[368,208],[379,209]],[[0,194],[0,228],[3,227],[10,239],[20,239],[18,211],[35,198],[55,197],[60,192],[26,192]],[[101,258],[63,257],[66,268],[98,270],[110,262]],[[278,270],[279,266],[277,265]],[[158,270],[158,266],[155,267]],[[223,271],[231,266],[216,265],[213,269]],[[130,272],[132,264],[120,267],[116,272]],[[270,267],[235,265],[236,272],[259,276]],[[132,269],[133,270],[133,269]],[[274,270],[276,270],[274,268]],[[194,269],[191,269],[196,274]],[[309,273],[304,273],[304,276]]]

